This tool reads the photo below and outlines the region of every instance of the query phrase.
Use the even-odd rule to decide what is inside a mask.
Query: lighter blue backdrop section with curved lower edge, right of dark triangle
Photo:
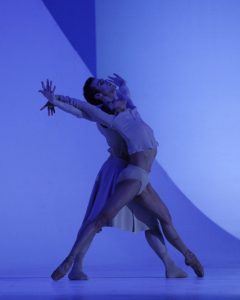
[[[96,1],[99,76],[127,78],[159,141],[160,165],[238,238],[239,15],[234,0]]]

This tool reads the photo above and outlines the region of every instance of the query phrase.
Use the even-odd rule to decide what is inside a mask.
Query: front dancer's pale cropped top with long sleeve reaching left
[[[97,106],[70,97],[56,95],[51,102],[77,117],[116,130],[126,142],[129,155],[158,146],[153,130],[141,119],[136,107],[110,115]]]

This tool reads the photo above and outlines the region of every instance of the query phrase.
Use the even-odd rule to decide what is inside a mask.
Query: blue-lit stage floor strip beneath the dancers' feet
[[[203,300],[240,299],[240,269],[206,269],[204,278],[189,272],[185,279],[156,274],[91,276],[88,281],[58,282],[44,277],[0,278],[1,300]]]

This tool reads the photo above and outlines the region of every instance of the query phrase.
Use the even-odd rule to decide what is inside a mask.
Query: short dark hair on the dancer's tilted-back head
[[[84,98],[87,100],[88,103],[92,105],[101,105],[99,107],[101,110],[108,114],[113,114],[113,112],[105,105],[103,105],[101,100],[95,99],[95,94],[98,93],[98,90],[96,88],[92,87],[92,82],[95,78],[94,77],[89,77],[83,86],[83,95]]]

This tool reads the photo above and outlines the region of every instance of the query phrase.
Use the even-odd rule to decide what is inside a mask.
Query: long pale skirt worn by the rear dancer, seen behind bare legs
[[[119,173],[126,166],[126,161],[114,156],[110,156],[103,164],[97,175],[83,224],[91,222],[101,212],[114,192]],[[157,218],[134,199],[124,206],[106,226],[137,232],[156,228],[158,224]]]

